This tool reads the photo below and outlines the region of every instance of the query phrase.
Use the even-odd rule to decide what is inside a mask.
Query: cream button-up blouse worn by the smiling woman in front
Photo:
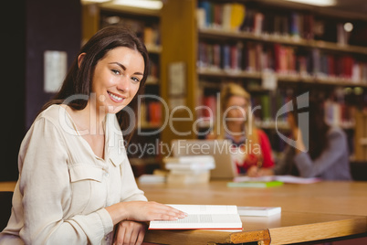
[[[137,187],[115,114],[105,120],[105,159],[96,156],[68,112],[52,105],[26,133],[18,157],[12,214],[0,244],[111,244],[106,207],[146,201]]]

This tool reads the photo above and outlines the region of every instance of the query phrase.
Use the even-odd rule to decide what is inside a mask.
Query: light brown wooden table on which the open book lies
[[[139,184],[146,197],[167,204],[275,206],[281,216],[243,217],[242,232],[149,230],[146,241],[162,244],[271,244],[367,236],[367,182],[320,182],[270,188],[226,187],[226,181],[172,186]],[[267,237],[270,237],[267,239]]]

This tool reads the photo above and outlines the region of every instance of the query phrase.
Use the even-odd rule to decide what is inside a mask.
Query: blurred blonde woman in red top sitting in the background
[[[244,88],[228,83],[220,91],[220,122],[207,139],[231,141],[237,173],[257,176],[259,169],[272,168],[274,160],[267,134],[257,129],[251,112],[251,98]]]

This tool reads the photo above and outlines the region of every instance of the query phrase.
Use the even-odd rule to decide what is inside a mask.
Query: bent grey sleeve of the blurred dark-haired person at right
[[[335,165],[344,154],[344,149],[348,147],[344,134],[333,132],[328,135],[329,146],[320,154],[320,156],[312,161],[307,153],[299,153],[295,156],[294,161],[299,168],[299,175],[302,177],[320,176],[322,173]]]

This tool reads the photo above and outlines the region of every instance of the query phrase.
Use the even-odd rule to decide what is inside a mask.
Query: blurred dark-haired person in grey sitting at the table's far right
[[[292,102],[296,105],[295,100]],[[296,147],[288,144],[277,165],[273,169],[259,170],[258,176],[292,175],[351,180],[346,133],[325,122],[323,103],[318,99],[309,99],[309,132],[299,129],[299,112],[288,112],[290,134]],[[309,149],[304,133],[309,133]]]

